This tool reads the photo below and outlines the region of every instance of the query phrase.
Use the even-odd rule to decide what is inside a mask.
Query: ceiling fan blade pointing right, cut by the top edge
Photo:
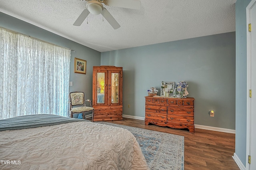
[[[141,3],[139,0],[106,0],[109,6],[116,6],[121,8],[130,8],[139,10]]]

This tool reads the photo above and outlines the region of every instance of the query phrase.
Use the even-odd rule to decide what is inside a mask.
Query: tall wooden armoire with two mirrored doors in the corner
[[[123,67],[93,66],[93,121],[122,120]]]

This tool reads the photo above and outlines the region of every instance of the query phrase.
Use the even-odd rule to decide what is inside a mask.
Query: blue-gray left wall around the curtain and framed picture
[[[0,12],[0,26],[62,47],[74,49],[75,52],[71,52],[70,61],[70,81],[73,81],[73,86],[70,86],[70,91],[83,91],[87,99],[92,99],[92,66],[100,65],[99,51],[58,36],[2,12]],[[75,57],[87,61],[86,74],[74,73]]]

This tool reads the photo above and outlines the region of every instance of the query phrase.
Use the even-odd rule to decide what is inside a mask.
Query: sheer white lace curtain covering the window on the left
[[[0,27],[0,119],[68,115],[71,50]]]

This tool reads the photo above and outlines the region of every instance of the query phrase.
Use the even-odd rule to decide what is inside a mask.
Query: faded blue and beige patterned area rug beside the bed
[[[184,136],[108,122],[97,123],[125,128],[132,132],[151,170],[184,170]]]

